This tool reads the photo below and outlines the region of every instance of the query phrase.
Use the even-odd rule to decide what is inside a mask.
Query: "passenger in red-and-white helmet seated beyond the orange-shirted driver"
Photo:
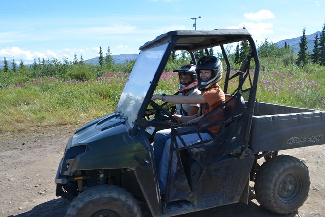
[[[200,95],[201,91],[197,89],[198,80],[194,64],[184,65],[174,72],[178,72],[179,92],[181,96]],[[199,103],[195,104],[176,104],[175,114],[191,116],[198,112]]]

